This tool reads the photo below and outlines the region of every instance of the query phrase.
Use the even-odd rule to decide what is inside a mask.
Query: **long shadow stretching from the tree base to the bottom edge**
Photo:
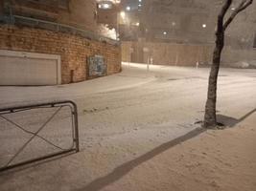
[[[206,129],[204,129],[204,128],[197,128],[197,129],[185,134],[184,136],[175,138],[169,142],[161,144],[160,146],[152,149],[150,152],[142,155],[141,157],[139,157],[137,159],[132,159],[132,160],[128,161],[127,163],[124,163],[124,164],[116,167],[110,174],[106,175],[105,177],[99,178],[97,180],[91,181],[85,187],[77,189],[77,191],[99,191],[102,188],[104,188],[106,185],[108,185],[116,180],[120,180],[122,177],[124,177],[126,174],[128,174],[128,172],[130,172],[133,168],[139,166],[141,163],[154,158],[155,156],[174,147],[177,144],[180,144],[190,138],[195,138],[199,134],[201,134],[205,131],[206,131]]]

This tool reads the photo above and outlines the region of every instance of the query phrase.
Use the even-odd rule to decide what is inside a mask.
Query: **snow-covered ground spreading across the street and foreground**
[[[0,190],[256,190],[256,70],[221,69],[218,114],[233,128],[205,132],[208,73],[124,63],[77,84],[0,87],[1,107],[74,100],[81,141],[80,153],[0,174]],[[1,135],[0,152],[13,144]]]

